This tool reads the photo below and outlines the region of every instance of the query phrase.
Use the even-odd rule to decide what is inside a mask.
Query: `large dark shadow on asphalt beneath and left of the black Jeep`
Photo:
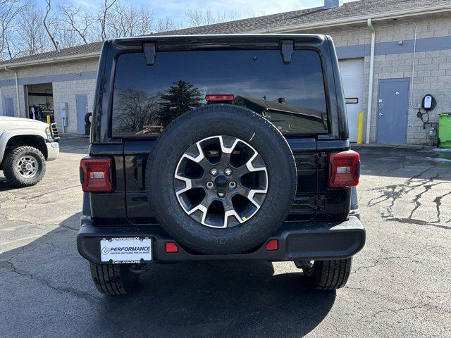
[[[274,275],[266,261],[151,265],[137,292],[105,296],[78,255],[79,219],[0,254],[6,337],[299,337],[335,301],[304,287],[294,265]]]

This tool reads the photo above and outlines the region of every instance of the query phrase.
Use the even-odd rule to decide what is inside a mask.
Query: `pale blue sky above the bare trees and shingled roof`
[[[45,4],[44,0],[39,0]],[[183,20],[185,11],[188,8],[204,9],[209,8],[213,13],[224,11],[236,11],[240,16],[247,17],[249,13],[268,15],[288,11],[297,11],[303,8],[323,6],[323,0],[129,0],[136,4],[146,4],[155,17],[169,16],[174,22]],[[354,0],[345,0],[349,2]],[[73,3],[81,6],[87,11],[96,12],[103,0],[54,0],[55,4]],[[259,16],[258,15],[258,16]]]

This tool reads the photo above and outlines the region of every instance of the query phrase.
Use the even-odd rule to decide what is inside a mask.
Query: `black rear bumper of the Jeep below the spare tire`
[[[348,258],[365,244],[365,229],[357,217],[345,222],[285,223],[270,239],[278,239],[278,250],[267,251],[265,244],[249,253],[206,255],[193,253],[179,245],[178,253],[166,253],[166,242],[174,242],[159,226],[96,227],[82,216],[77,235],[81,256],[94,263],[100,259],[100,241],[105,237],[149,237],[153,243],[152,263],[176,261],[257,259],[266,261],[315,261]]]

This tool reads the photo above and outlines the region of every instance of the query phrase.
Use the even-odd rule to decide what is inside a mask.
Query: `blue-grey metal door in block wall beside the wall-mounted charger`
[[[376,142],[407,142],[408,78],[379,80]]]

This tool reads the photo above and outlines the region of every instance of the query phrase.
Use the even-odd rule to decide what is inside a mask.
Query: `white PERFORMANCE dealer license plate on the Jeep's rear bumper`
[[[116,237],[101,239],[102,262],[140,263],[152,261],[152,239],[140,237]]]

